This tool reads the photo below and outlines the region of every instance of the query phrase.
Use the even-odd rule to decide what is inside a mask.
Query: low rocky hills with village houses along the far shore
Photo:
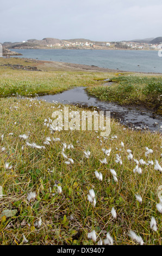
[[[152,40],[132,41],[91,41],[88,39],[60,40],[55,38],[43,38],[42,40],[29,39],[21,42],[4,42],[3,48],[10,49],[91,49],[91,50],[155,50],[162,48],[162,37]]]

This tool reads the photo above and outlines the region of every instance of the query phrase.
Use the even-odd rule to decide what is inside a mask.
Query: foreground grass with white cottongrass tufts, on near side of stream
[[[23,235],[27,245],[95,245],[99,239],[104,241],[107,231],[114,245],[134,245],[129,230],[140,235],[146,245],[161,245],[161,214],[156,204],[162,181],[161,173],[154,169],[155,159],[161,164],[159,133],[124,129],[113,119],[107,139],[93,130],[51,133],[49,126],[44,125],[45,119],[52,120],[53,111],[63,109],[63,105],[14,97],[1,98],[0,103],[0,185],[5,194],[0,198],[1,245],[22,245]],[[70,106],[71,110],[83,109]],[[23,134],[29,137],[21,139]],[[114,135],[117,138],[112,138]],[[47,137],[51,138],[49,145],[44,144]],[[54,142],[53,137],[60,141]],[[29,147],[27,141],[45,149]],[[64,151],[73,164],[65,164],[61,154],[63,143],[74,147]],[[153,150],[148,158],[145,147]],[[105,157],[102,148],[111,148],[107,164],[99,161]],[[134,173],[136,163],[128,160],[127,149],[132,150],[135,159],[144,159],[146,163],[153,160],[153,166],[139,164],[142,174]],[[85,150],[90,150],[89,159]],[[121,165],[115,162],[116,154],[121,155]],[[5,163],[12,168],[5,169]],[[115,169],[118,182],[110,169]],[[102,181],[96,179],[95,170],[102,173]],[[54,186],[56,180],[61,193]],[[88,201],[90,189],[95,191],[95,207]],[[30,191],[36,197],[29,202]],[[140,194],[142,203],[135,194]],[[116,219],[111,215],[113,207]],[[8,217],[2,216],[4,210],[16,211]],[[157,221],[156,232],[149,227],[152,216]],[[35,223],[40,218],[42,223],[38,227]],[[92,229],[97,234],[96,242],[88,239]]]

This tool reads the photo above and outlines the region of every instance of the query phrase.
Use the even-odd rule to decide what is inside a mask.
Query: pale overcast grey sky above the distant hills
[[[5,0],[0,17],[0,42],[162,36],[161,0]]]

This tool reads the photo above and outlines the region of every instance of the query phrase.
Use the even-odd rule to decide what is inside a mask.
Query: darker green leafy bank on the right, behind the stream
[[[104,101],[124,105],[142,105],[162,113],[162,77],[146,75],[121,75],[113,77],[111,86],[88,87],[89,94]]]

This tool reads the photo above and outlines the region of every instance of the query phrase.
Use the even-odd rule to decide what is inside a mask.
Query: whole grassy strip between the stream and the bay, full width
[[[42,71],[13,70],[6,64],[36,66]],[[121,105],[141,105],[162,113],[161,75],[121,72],[54,71],[54,66],[41,61],[0,58],[0,96],[35,96],[56,94],[77,86],[85,86],[90,95]],[[103,86],[104,80],[114,82]]]

